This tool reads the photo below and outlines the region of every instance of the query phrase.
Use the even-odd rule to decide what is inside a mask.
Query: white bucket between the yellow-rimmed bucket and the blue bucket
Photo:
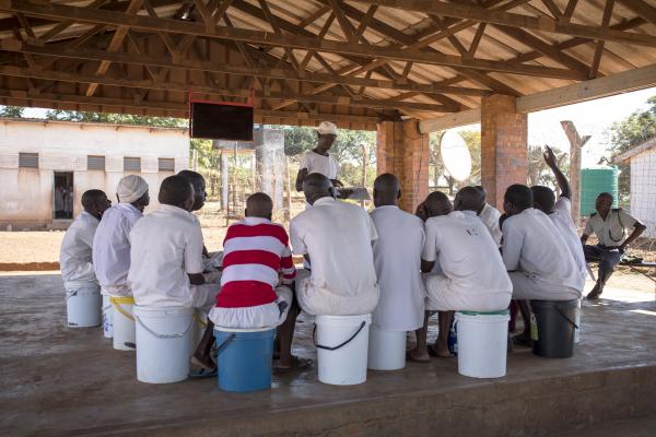
[[[178,382],[189,375],[194,308],[134,306],[137,379]]]

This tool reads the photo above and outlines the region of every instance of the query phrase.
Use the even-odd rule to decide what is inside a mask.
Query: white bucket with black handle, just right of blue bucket
[[[371,322],[372,315],[316,317],[319,381],[335,386],[366,381]]]

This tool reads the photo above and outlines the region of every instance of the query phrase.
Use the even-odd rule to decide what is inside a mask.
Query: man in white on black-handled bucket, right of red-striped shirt
[[[372,250],[378,235],[366,211],[336,200],[332,191],[321,174],[303,180],[312,208],[292,218],[290,234],[294,253],[312,262],[312,274],[298,271],[296,297],[311,315],[366,315],[378,303]]]

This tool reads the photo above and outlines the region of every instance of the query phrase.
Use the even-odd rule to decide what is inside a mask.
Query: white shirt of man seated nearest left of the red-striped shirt
[[[128,281],[137,305],[192,307],[187,273],[203,269],[198,218],[181,208],[161,204],[134,225],[130,241]]]

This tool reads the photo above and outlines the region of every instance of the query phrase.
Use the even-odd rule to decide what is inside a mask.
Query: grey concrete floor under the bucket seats
[[[270,391],[233,394],[214,379],[138,382],[133,353],[112,350],[99,329],[65,326],[58,274],[0,275],[0,435],[391,436],[446,427],[455,436],[591,436],[587,429],[606,422],[636,432],[621,435],[646,435],[640,424],[656,417],[654,294],[605,297],[585,304],[573,358],[515,350],[497,380],[433,359],[370,371],[354,387],[323,385],[313,369],[274,377]],[[302,356],[315,356],[311,328],[298,324]]]

